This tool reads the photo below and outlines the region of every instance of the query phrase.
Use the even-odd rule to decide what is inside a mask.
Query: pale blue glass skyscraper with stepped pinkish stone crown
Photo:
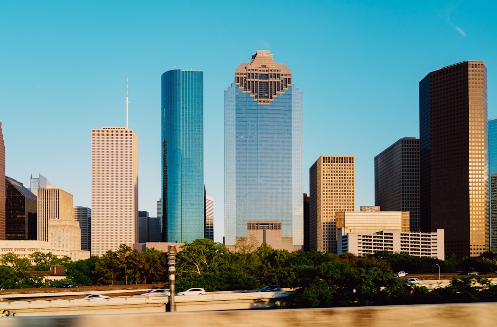
[[[292,72],[269,51],[236,69],[224,92],[226,245],[247,237],[248,222],[281,225],[303,245],[302,110]]]

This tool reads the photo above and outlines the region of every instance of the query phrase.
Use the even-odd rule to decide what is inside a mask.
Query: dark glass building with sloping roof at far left
[[[5,239],[36,240],[37,197],[17,180],[5,176]]]

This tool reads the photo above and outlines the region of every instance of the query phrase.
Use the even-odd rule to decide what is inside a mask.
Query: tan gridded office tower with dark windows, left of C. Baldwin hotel
[[[321,156],[309,168],[309,243],[336,253],[338,211],[355,210],[354,156]]]

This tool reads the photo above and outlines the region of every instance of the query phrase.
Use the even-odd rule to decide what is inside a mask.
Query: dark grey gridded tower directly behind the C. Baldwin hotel
[[[374,157],[374,202],[382,211],[409,211],[419,232],[419,139],[405,137]]]

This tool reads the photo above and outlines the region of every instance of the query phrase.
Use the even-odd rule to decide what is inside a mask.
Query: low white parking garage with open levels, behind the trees
[[[338,254],[374,254],[379,251],[408,253],[414,256],[445,258],[444,230],[433,233],[403,232],[400,229],[385,229],[376,233],[347,233],[338,229]]]

